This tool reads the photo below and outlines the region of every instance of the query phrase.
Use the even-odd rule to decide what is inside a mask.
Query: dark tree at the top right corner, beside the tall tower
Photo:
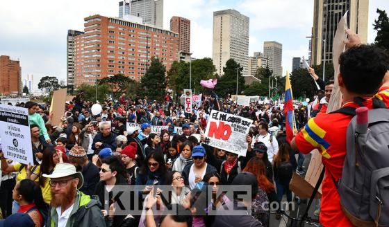
[[[378,19],[374,20],[374,30],[377,31],[374,44],[389,50],[389,18],[385,10],[377,9]]]

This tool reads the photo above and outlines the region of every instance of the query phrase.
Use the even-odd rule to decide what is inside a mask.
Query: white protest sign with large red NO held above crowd
[[[206,127],[205,143],[240,156],[246,156],[246,136],[253,120],[212,110]]]

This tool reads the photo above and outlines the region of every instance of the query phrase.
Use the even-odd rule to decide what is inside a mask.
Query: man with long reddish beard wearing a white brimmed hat
[[[76,172],[74,165],[58,163],[52,174],[43,176],[51,180],[50,226],[106,226],[99,199],[78,191],[83,185],[83,175]]]

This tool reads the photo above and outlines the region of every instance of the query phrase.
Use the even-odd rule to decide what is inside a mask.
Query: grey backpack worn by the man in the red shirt
[[[363,107],[362,98],[354,101]],[[389,225],[389,109],[376,98],[373,108],[364,125],[357,124],[353,107],[335,111],[354,116],[347,127],[342,178],[329,174],[338,186],[342,210],[355,226]]]

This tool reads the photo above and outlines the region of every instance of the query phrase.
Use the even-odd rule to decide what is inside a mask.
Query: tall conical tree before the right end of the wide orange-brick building
[[[140,94],[151,100],[163,101],[166,89],[166,68],[158,57],[154,57],[146,74],[140,79]]]

